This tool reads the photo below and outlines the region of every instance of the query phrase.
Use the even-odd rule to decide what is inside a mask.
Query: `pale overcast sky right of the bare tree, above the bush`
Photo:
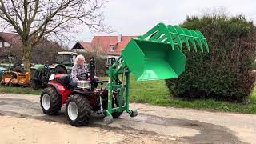
[[[186,15],[198,15],[209,9],[225,9],[230,15],[244,14],[256,22],[255,0],[109,0],[103,9],[104,23],[116,32],[91,34],[84,30],[77,40],[90,42],[94,35],[140,35],[158,22],[178,25]],[[69,46],[74,46],[74,42]]]

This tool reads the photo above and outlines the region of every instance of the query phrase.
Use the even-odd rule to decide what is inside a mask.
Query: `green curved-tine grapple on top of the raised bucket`
[[[190,51],[190,42],[194,47],[194,50],[198,51],[198,46],[203,52],[203,46],[206,47],[206,51],[209,52],[209,46],[206,42],[206,38],[198,30],[188,30],[179,26],[164,25],[158,23],[146,34],[139,36],[138,39],[151,42],[160,42],[170,44],[172,50],[174,46],[177,46],[179,50],[182,50],[182,44],[186,44],[187,50]],[[198,45],[198,46],[196,46]]]

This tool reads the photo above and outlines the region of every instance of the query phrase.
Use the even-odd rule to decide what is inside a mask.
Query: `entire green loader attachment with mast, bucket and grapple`
[[[132,38],[118,60],[106,71],[110,79],[105,122],[113,122],[112,115],[122,114],[124,110],[131,117],[137,115],[136,110],[129,108],[130,73],[137,81],[178,78],[186,65],[183,47],[189,51],[193,47],[195,51],[209,52],[206,38],[200,31],[163,23],[138,38]],[[114,91],[118,91],[118,95]],[[118,106],[112,105],[114,100],[118,100]]]

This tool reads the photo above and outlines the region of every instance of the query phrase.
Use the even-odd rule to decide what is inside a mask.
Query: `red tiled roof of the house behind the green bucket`
[[[131,38],[137,36],[122,36],[121,42],[118,42],[118,36],[94,36],[91,46],[105,54],[120,54]],[[110,51],[110,45],[116,46],[114,51]]]

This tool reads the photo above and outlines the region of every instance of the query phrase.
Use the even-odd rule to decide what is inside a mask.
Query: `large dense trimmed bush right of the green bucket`
[[[255,76],[255,26],[243,16],[204,15],[186,18],[181,25],[200,30],[206,37],[210,53],[186,55],[186,70],[178,79],[166,80],[174,96],[211,97],[233,101],[249,98]]]

